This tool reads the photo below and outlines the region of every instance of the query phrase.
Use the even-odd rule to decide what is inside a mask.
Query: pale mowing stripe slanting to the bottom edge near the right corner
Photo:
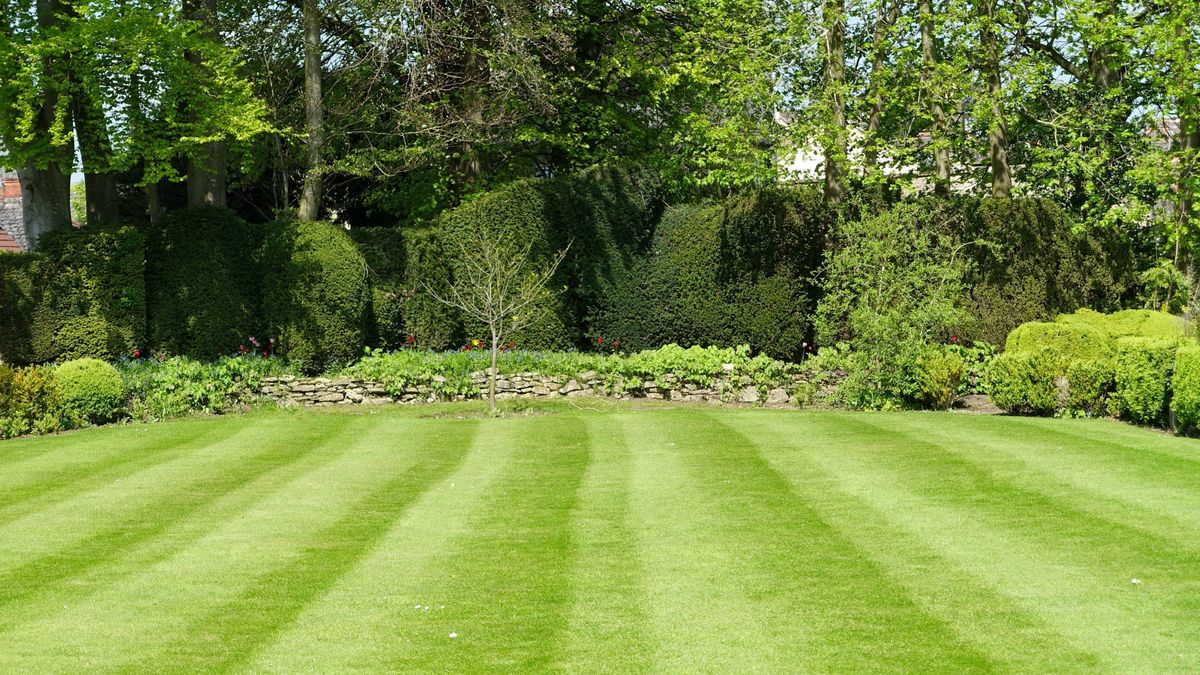
[[[836,453],[845,444],[860,442],[856,432],[846,430],[851,420],[826,424],[817,416],[797,417],[785,420],[748,413],[739,414],[737,425],[798,495],[866,552],[890,580],[904,586],[926,613],[942,616],[955,633],[1003,670],[1091,673],[1100,667],[1096,655],[1064,646],[1062,637],[1037,611],[1001,595],[989,579],[943,555],[925,538],[896,527],[888,512],[859,498],[835,474],[824,471],[814,460],[815,453]]]

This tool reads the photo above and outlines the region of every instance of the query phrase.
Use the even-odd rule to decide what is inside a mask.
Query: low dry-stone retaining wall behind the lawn
[[[472,375],[480,392],[487,390],[487,375]],[[479,399],[480,394],[446,396],[439,394],[434,384],[444,383],[445,378],[434,376],[428,384],[413,384],[403,392],[391,395],[379,382],[367,380],[325,377],[269,377],[264,378],[260,393],[276,399],[284,405],[337,406],[364,404],[431,404],[445,400]],[[674,376],[661,381],[629,380],[610,382],[594,372],[584,372],[576,377],[547,376],[536,372],[503,375],[496,382],[498,399],[574,399],[581,396],[600,396],[611,399],[655,399],[671,401],[707,401],[714,404],[745,404],[787,406],[794,405],[793,392],[806,381],[793,377],[780,382],[778,387],[761,390],[749,377],[726,377],[718,380],[710,387],[701,387],[690,382],[679,382]]]

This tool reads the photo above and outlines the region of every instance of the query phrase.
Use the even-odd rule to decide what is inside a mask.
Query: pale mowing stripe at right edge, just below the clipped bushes
[[[1064,443],[1052,434],[1032,441],[997,441],[980,434],[974,424],[949,419],[932,428],[914,428],[902,419],[896,424],[941,446],[971,448],[972,455],[986,458],[989,466],[1006,466],[1006,476],[1027,490],[1180,546],[1200,549],[1200,491],[1195,490],[1200,468],[1190,464],[1146,466],[1127,447],[1120,447],[1117,454],[1096,443]]]

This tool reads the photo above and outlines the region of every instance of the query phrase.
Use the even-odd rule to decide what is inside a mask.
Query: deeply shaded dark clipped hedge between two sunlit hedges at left
[[[233,211],[174,211],[146,235],[150,345],[211,359],[262,334],[262,232]]]

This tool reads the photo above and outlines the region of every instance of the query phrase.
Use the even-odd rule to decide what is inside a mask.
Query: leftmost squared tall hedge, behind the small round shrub
[[[0,255],[0,356],[12,363],[113,359],[145,341],[142,234],[52,232],[37,253]]]

